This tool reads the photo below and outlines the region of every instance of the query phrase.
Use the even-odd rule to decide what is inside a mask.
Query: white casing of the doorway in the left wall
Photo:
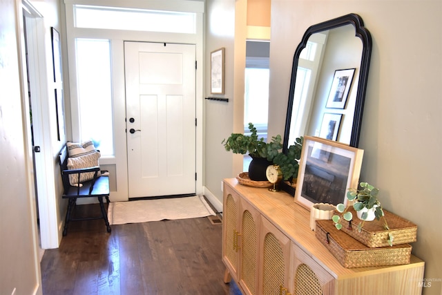
[[[59,234],[57,218],[57,200],[55,193],[55,169],[54,156],[52,155],[52,142],[50,132],[50,106],[49,99],[52,97],[48,91],[48,64],[46,59],[46,27],[44,17],[35,9],[28,0],[17,3],[17,15],[20,24],[19,28],[19,54],[21,62],[21,91],[23,106],[23,129],[25,133],[26,149],[26,172],[28,178],[28,191],[30,193],[31,214],[35,222],[35,236],[38,247],[41,249],[52,249],[59,246],[61,235]],[[24,18],[24,19],[23,19]],[[28,32],[27,44],[25,43],[25,27],[23,21],[26,19],[26,30]],[[31,33],[32,32],[32,33]],[[26,46],[28,46],[29,79],[30,89],[27,84],[26,66]],[[38,104],[32,107],[32,119],[35,126],[34,144],[41,147],[41,152],[37,153],[36,166],[32,162],[32,131],[30,124],[30,104],[28,91],[32,93]],[[36,128],[37,127],[37,128]],[[35,191],[35,175],[37,178],[37,192]],[[39,195],[39,237],[37,227],[37,208],[35,198]],[[40,246],[39,246],[40,244]]]

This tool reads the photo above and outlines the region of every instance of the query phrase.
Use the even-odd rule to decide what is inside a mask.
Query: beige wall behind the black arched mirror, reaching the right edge
[[[385,209],[418,225],[412,253],[425,260],[424,294],[441,294],[442,1],[272,0],[269,136],[282,134],[291,61],[305,30],[350,12],[372,33],[359,147],[361,180]]]

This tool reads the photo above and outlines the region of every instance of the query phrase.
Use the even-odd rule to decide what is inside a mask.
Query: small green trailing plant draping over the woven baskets
[[[355,211],[361,211],[364,208],[367,209],[374,209],[374,216],[376,220],[383,219],[384,227],[385,229],[390,229],[387,224],[387,220],[385,219],[385,214],[381,206],[381,202],[378,200],[378,193],[379,189],[372,186],[372,184],[369,184],[367,182],[361,182],[359,184],[361,189],[349,189],[347,191],[347,200],[353,203],[353,208]],[[344,204],[340,203],[336,205],[336,211],[340,213],[340,215],[335,214],[332,217],[333,222],[335,223],[336,229],[342,229],[343,225],[341,224],[342,219],[347,220],[348,222],[351,222],[353,219],[352,212],[348,211],[349,206],[345,207]],[[367,218],[367,212],[363,212],[361,219],[362,222],[359,222],[358,224],[358,231],[361,232],[363,229],[363,225],[365,222],[365,219]],[[389,233],[388,234],[388,244],[390,246],[393,245],[394,236]]]

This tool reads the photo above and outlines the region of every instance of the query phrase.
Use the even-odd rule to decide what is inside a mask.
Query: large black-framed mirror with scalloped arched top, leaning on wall
[[[307,29],[291,70],[285,153],[304,135],[358,146],[371,53],[372,37],[359,15]]]

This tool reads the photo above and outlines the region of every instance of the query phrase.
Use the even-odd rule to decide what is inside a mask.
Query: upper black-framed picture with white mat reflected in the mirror
[[[345,108],[356,68],[335,70],[326,108]]]

